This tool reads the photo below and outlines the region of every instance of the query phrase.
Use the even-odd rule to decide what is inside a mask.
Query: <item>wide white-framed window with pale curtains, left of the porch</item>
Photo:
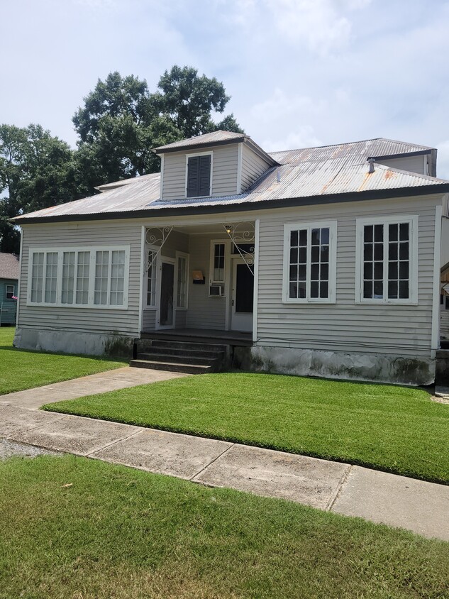
[[[128,304],[128,247],[30,250],[28,303],[118,307]]]

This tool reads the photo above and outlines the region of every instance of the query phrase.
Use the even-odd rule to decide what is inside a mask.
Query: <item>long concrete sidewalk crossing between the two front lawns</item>
[[[284,498],[449,541],[449,487],[305,456],[0,404],[0,436]]]

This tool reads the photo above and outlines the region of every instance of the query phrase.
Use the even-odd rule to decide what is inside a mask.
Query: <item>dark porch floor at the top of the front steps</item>
[[[217,329],[165,329],[142,331],[140,339],[167,339],[170,341],[198,341],[233,346],[252,346],[253,334],[241,331],[219,331]]]

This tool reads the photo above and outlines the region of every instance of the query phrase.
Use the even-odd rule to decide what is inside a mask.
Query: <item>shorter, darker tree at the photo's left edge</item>
[[[18,253],[8,219],[80,197],[74,153],[40,125],[0,125],[0,251]]]

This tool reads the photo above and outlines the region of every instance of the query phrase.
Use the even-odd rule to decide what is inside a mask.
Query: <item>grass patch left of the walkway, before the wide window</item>
[[[0,328],[0,395],[119,368],[123,361],[14,348],[12,326]]]

